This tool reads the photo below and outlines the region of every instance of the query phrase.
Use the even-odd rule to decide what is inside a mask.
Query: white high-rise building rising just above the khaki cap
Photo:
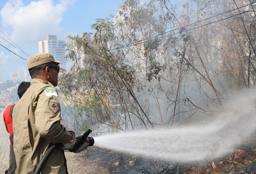
[[[65,62],[65,47],[64,41],[57,40],[56,35],[46,35],[46,40],[39,41],[39,53],[50,53],[55,60]],[[66,69],[66,63],[61,64],[61,68]]]

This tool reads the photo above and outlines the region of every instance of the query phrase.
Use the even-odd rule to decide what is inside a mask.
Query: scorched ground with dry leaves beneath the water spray
[[[209,161],[204,166],[146,160],[94,146],[82,153],[68,155],[68,162],[72,158],[80,167],[73,167],[69,172],[78,170],[84,174],[256,174],[256,149],[248,147],[236,149],[228,156]]]

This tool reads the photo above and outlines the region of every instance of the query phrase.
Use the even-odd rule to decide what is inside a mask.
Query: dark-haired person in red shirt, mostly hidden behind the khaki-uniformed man
[[[30,82],[22,82],[18,86],[18,96],[19,99],[23,96],[23,94],[26,92],[28,87],[30,86]],[[14,174],[16,169],[16,160],[15,155],[13,151],[13,129],[12,129],[12,112],[14,105],[9,105],[5,108],[3,112],[3,122],[5,124],[6,131],[10,134],[10,154],[9,154],[9,168],[6,169],[5,174]]]

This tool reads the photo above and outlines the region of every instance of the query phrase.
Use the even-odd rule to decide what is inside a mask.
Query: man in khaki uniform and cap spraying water
[[[49,156],[41,174],[68,173],[63,149],[75,148],[75,134],[60,124],[60,106],[55,88],[58,85],[59,63],[62,62],[55,61],[48,53],[35,54],[27,60],[32,81],[13,110],[17,174],[33,174],[46,150],[55,143],[63,144]],[[85,142],[75,153],[87,147]]]

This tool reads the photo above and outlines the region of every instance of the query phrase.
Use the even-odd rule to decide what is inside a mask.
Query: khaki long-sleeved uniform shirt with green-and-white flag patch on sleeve
[[[72,136],[60,124],[60,106],[55,87],[32,79],[30,87],[13,110],[14,153],[17,174],[33,174],[40,159],[53,143],[68,143]],[[56,148],[41,174],[66,174],[64,151]]]

